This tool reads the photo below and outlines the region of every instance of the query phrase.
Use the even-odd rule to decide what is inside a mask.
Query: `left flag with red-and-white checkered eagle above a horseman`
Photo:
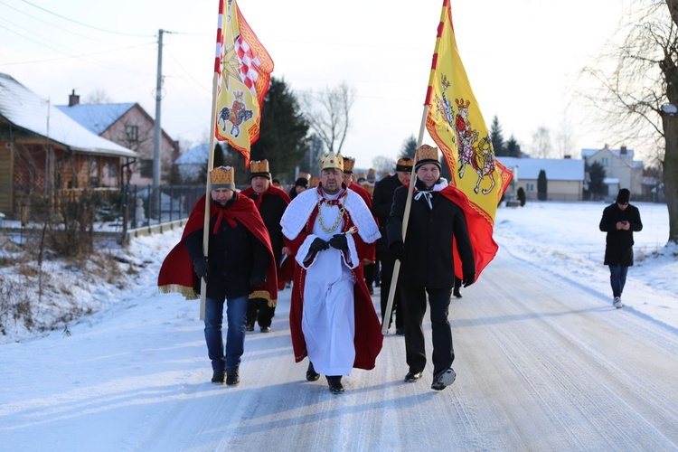
[[[219,0],[214,71],[218,74],[214,137],[240,151],[249,167],[273,60],[235,0]]]

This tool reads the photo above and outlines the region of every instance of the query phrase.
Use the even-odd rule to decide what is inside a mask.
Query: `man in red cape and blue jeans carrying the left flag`
[[[205,219],[202,196],[193,207],[181,242],[160,268],[158,287],[162,292],[179,292],[186,298],[195,298],[200,278],[204,278],[207,287],[204,335],[212,362],[212,383],[237,385],[248,298],[254,293],[276,302],[276,261],[268,231],[254,202],[235,191],[233,168],[215,168],[210,181],[207,255],[202,250]],[[224,305],[228,323],[225,347],[221,332]]]

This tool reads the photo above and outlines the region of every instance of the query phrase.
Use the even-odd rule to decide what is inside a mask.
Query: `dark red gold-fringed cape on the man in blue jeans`
[[[255,287],[254,294],[259,297],[263,294],[264,298],[275,302],[278,300],[276,259],[273,257],[268,231],[259,211],[254,206],[254,202],[241,194],[238,194],[236,201],[228,209],[222,209],[218,204],[210,202],[210,219],[212,220],[214,215],[220,214],[224,221],[239,221],[257,240],[266,245],[269,256],[268,267],[266,268],[266,283],[261,287]],[[184,238],[204,227],[204,216],[205,195],[203,194],[195,203],[193,211],[188,217],[182,240],[174,246],[163,261],[157,278],[157,285],[161,292],[178,292],[184,295],[186,299],[198,298],[200,278],[193,271],[193,262],[191,262],[191,257],[184,245]],[[252,297],[252,294],[250,294],[250,297]]]

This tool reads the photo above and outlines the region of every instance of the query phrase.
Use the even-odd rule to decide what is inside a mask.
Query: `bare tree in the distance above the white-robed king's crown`
[[[351,126],[350,113],[355,101],[355,90],[346,83],[341,83],[319,93],[306,93],[301,101],[306,120],[315,135],[327,150],[339,154]]]

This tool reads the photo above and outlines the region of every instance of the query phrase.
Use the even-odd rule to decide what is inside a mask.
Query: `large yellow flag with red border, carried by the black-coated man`
[[[513,173],[494,157],[492,139],[457,51],[449,0],[444,0],[440,14],[425,106],[426,128],[445,157],[450,185],[465,198],[462,207],[476,260],[480,259],[479,274],[498,249],[492,239],[494,216]]]

